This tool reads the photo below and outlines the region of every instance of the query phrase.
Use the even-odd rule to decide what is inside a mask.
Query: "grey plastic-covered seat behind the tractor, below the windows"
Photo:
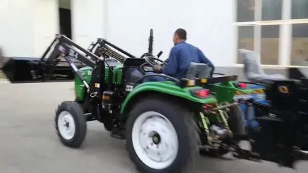
[[[244,75],[250,82],[270,84],[276,80],[286,80],[285,76],[274,74],[268,75],[261,68],[260,54],[256,51],[239,49],[243,57]]]

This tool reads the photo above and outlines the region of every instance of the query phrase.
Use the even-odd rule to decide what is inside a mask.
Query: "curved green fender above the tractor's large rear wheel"
[[[200,104],[210,104],[210,103],[217,102],[216,98],[213,96],[210,96],[206,99],[201,99],[201,98],[191,95],[190,89],[197,89],[197,88],[201,89],[201,87],[181,88],[175,85],[173,82],[145,82],[135,87],[135,89],[133,89],[133,91],[131,91],[131,93],[129,93],[129,95],[126,96],[124,102],[122,103],[120,113],[121,115],[124,113],[127,105],[133,99],[133,97],[135,97],[136,95],[139,95],[140,93],[144,93],[146,91],[165,93],[168,95],[173,95],[175,97],[181,97],[183,99],[189,100],[190,102],[196,102]]]

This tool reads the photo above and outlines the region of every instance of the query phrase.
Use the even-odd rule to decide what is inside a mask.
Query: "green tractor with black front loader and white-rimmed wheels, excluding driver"
[[[247,135],[237,104],[217,100],[222,96],[215,92],[223,91],[218,85],[234,82],[237,76],[211,76],[208,65],[196,63],[183,79],[148,75],[153,65],[167,63],[159,59],[162,52],[158,58],[152,52],[152,30],[148,52],[140,58],[104,39],[87,50],[57,35],[41,58],[2,60],[1,70],[12,83],[73,79],[76,99],[62,102],[54,117],[61,142],[78,148],[87,122],[101,122],[111,137],[126,140],[140,172],[191,172],[200,152],[262,159],[239,147]],[[149,76],[168,81],[144,82]]]

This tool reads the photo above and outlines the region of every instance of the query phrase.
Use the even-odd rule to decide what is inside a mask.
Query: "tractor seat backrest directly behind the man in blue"
[[[186,78],[210,78],[211,67],[203,63],[190,62]]]

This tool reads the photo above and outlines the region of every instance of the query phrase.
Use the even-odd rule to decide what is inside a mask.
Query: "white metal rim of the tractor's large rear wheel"
[[[132,130],[133,148],[148,167],[162,170],[177,157],[177,132],[164,115],[149,111],[137,117]]]

